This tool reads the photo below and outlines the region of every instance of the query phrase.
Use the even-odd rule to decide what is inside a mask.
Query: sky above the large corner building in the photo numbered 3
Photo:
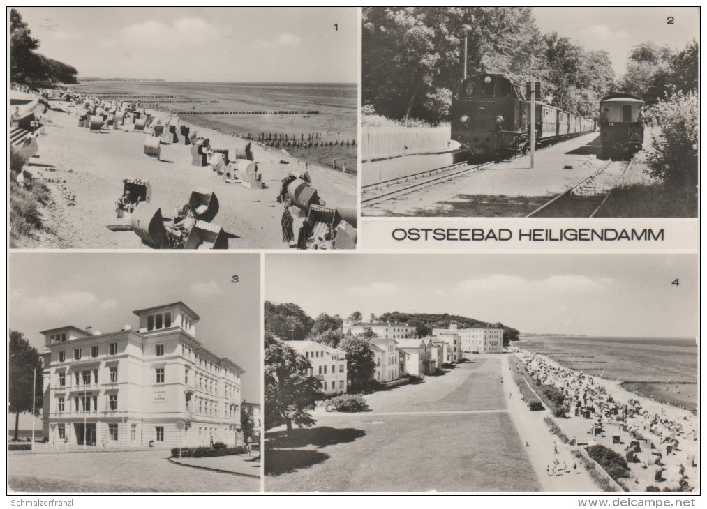
[[[231,282],[238,275],[239,282]],[[196,337],[218,357],[245,369],[241,393],[260,400],[260,261],[258,254],[12,253],[9,327],[40,352],[40,330],[75,325],[102,333],[138,329],[135,309],[183,301],[200,317]],[[28,414],[21,428],[31,427]],[[14,429],[14,416],[10,425]]]

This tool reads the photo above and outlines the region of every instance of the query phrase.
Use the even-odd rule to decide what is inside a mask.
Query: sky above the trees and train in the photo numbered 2
[[[631,48],[653,41],[683,49],[699,40],[697,7],[534,7],[537,27],[580,42],[585,49],[605,49],[617,78],[626,73]],[[674,18],[667,23],[668,16]]]

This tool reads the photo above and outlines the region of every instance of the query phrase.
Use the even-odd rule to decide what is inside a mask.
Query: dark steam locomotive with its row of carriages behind
[[[530,101],[501,74],[479,74],[462,82],[452,98],[452,140],[472,157],[503,157],[530,149]],[[596,130],[586,119],[543,102],[535,103],[535,140],[544,145]]]

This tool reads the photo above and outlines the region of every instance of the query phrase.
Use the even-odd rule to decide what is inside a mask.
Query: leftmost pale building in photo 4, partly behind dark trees
[[[346,392],[346,352],[316,341],[286,341],[285,344],[310,361],[309,374],[319,378],[326,395]]]

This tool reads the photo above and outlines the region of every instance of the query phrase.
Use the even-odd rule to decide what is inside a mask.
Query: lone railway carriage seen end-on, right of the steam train
[[[607,95],[599,103],[602,158],[631,156],[643,148],[643,106],[636,95]]]

